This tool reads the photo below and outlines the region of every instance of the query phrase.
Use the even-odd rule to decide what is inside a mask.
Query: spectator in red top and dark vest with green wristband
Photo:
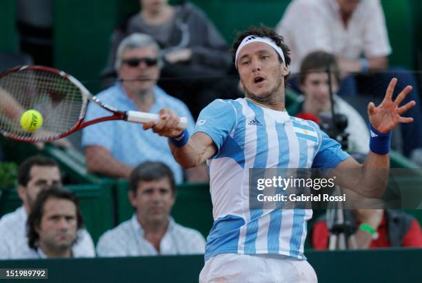
[[[344,210],[345,222],[350,223],[354,240],[349,247],[372,249],[385,247],[422,247],[418,221],[403,211],[394,209]],[[319,218],[312,229],[312,247],[328,249],[330,231],[325,217]]]

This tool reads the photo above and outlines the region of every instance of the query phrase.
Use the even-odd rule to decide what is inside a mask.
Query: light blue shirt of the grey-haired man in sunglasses
[[[97,97],[103,103],[122,111],[139,111],[132,99],[125,94],[121,83],[100,92]],[[173,109],[179,116],[188,117],[188,132],[192,134],[194,120],[188,107],[179,99],[166,94],[160,87],[154,87],[154,104],[150,113],[159,113],[164,107]],[[85,120],[110,116],[110,112],[95,103],[89,103]],[[168,139],[152,130],[144,131],[142,125],[121,120],[107,121],[83,129],[82,146],[99,145],[110,151],[121,163],[137,166],[144,161],[161,161],[172,169],[176,182],[183,181],[181,166],[174,160]]]

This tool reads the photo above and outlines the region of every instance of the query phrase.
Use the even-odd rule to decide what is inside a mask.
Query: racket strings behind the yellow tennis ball
[[[83,96],[79,87],[53,72],[30,68],[0,78],[0,130],[23,140],[51,140],[68,132],[83,117]],[[35,109],[43,125],[26,132],[21,114]]]

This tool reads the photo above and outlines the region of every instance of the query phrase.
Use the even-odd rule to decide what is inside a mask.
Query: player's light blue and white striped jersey
[[[245,98],[205,107],[195,132],[217,154],[207,160],[214,225],[205,260],[219,253],[277,253],[305,259],[310,209],[249,209],[250,168],[334,168],[348,158],[315,123],[260,107]]]

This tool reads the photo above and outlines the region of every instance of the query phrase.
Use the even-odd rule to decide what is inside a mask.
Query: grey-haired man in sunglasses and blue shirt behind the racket
[[[161,108],[173,109],[179,116],[188,117],[188,131],[192,132],[194,120],[188,107],[156,85],[163,65],[159,54],[159,46],[148,34],[131,34],[121,41],[115,62],[121,83],[104,90],[98,98],[121,110],[158,114]],[[99,105],[88,105],[86,120],[105,115],[108,115],[107,111]],[[134,166],[155,160],[172,169],[176,182],[183,181],[182,168],[170,152],[168,139],[144,131],[139,124],[110,121],[86,127],[82,133],[82,145],[91,172],[128,178]],[[205,165],[202,169],[201,174],[195,174],[196,169],[188,171],[188,180],[208,180]]]

